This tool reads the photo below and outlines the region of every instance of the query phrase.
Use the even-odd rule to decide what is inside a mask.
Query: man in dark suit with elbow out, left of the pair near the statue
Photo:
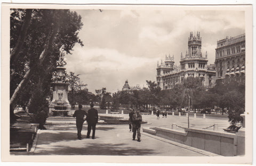
[[[82,139],[82,128],[84,123],[84,115],[87,116],[87,113],[82,110],[82,104],[78,105],[78,110],[75,111],[73,117],[76,117],[76,128],[77,128],[77,138]]]

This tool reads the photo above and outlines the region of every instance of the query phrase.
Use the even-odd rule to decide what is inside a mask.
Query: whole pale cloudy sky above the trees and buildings
[[[147,86],[156,81],[157,61],[174,55],[179,65],[180,54],[188,49],[189,32],[199,31],[202,53],[207,51],[208,64],[213,64],[217,40],[245,33],[242,11],[183,10],[75,10],[82,16],[79,38],[67,55],[67,72],[81,74],[87,88],[106,87],[108,92],[121,90],[125,80],[130,86]]]

